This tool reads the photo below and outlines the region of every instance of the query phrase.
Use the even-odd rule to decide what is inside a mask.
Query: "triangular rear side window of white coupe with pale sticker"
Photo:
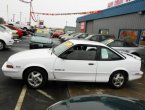
[[[115,52],[111,51],[108,48],[101,48],[101,55],[100,55],[101,60],[122,60],[123,58],[117,55]]]

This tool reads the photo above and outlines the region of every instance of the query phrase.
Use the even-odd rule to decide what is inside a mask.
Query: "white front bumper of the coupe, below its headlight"
[[[3,74],[14,79],[22,79],[22,73],[17,68],[7,68],[7,62],[2,66]]]

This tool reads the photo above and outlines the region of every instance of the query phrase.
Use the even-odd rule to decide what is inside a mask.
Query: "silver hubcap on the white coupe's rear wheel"
[[[112,83],[116,87],[121,87],[124,83],[124,76],[121,73],[117,73],[113,76]]]

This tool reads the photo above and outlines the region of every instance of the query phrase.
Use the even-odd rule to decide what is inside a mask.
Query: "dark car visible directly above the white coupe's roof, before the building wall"
[[[109,39],[109,38],[115,39],[115,36],[114,35],[107,35],[107,34],[92,34],[92,35],[89,35],[88,37],[86,37],[85,39],[91,40],[91,41],[101,42],[101,41],[104,41],[104,40]]]

